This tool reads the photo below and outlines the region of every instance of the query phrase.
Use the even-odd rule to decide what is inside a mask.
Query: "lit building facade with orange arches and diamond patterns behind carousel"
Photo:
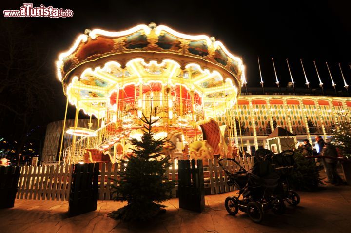
[[[314,136],[331,136],[336,123],[345,120],[342,115],[351,110],[350,97],[295,95],[292,90],[281,95],[277,88],[272,91],[266,95],[242,93],[234,106],[235,142],[249,152],[266,148],[265,139],[277,126],[297,135],[299,142],[308,139],[314,144]],[[222,116],[217,119],[220,125],[224,124]],[[242,140],[237,129],[239,121]]]

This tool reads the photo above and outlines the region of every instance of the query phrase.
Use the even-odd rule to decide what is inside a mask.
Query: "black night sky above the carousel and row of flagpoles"
[[[2,3],[2,10],[17,10],[28,1],[13,0]],[[73,18],[4,18],[1,26],[24,27],[28,38],[38,41],[47,61],[47,85],[54,90],[54,101],[46,106],[50,112],[41,123],[63,119],[65,97],[55,76],[54,62],[60,52],[71,47],[84,29],[101,28],[121,31],[137,24],[167,25],[190,35],[214,36],[234,54],[243,58],[247,66],[248,87],[259,86],[257,57],[260,57],[265,86],[274,86],[272,58],[281,86],[290,80],[286,65],[289,59],[297,87],[305,80],[300,59],[303,59],[312,88],[318,88],[313,60],[317,62],[325,88],[331,80],[325,62],[331,68],[337,88],[343,88],[338,63],[351,84],[351,4],[335,0],[312,1],[31,1],[34,6],[44,4],[73,10]],[[228,1],[229,2],[229,1]],[[284,2],[284,3],[283,3]],[[23,36],[23,40],[28,39]],[[2,109],[1,114],[6,114]],[[73,116],[74,108],[69,111]],[[0,132],[1,134],[1,132]]]

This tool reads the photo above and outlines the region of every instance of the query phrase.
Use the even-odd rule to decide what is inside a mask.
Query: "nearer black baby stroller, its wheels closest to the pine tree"
[[[239,171],[230,173],[224,168],[223,160],[234,161],[240,166]],[[218,164],[228,176],[228,185],[239,189],[237,197],[229,196],[225,200],[224,205],[229,214],[235,215],[240,210],[248,213],[255,223],[260,223],[264,213],[269,210],[273,210],[275,214],[283,214],[284,201],[273,194],[278,186],[279,176],[274,173],[269,161],[257,162],[252,172],[246,171],[232,158],[219,159]],[[241,195],[242,199],[239,199]]]

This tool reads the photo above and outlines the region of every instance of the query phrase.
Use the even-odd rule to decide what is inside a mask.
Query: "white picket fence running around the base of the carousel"
[[[253,158],[236,159],[246,170],[252,168]],[[231,173],[239,170],[239,166],[232,161],[223,161],[226,170]],[[116,193],[113,193],[114,180],[117,173],[123,169],[121,164],[102,163],[100,167],[98,199],[112,200]],[[20,171],[18,199],[36,200],[68,200],[72,181],[73,165],[51,165],[51,166],[23,166]],[[177,181],[178,169],[173,163],[168,169],[169,181]],[[167,174],[166,173],[166,174]],[[209,160],[209,165],[204,166],[205,189],[210,189],[208,194],[220,194],[233,191],[234,188],[227,185],[227,175],[218,165],[215,159]],[[171,194],[176,197],[178,187],[176,186]]]

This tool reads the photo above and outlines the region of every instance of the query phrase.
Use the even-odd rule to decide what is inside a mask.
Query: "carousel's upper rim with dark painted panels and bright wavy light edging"
[[[58,78],[65,81],[74,69],[86,62],[133,52],[168,53],[198,58],[206,61],[199,61],[203,68],[210,68],[211,64],[215,64],[231,73],[237,81],[240,81],[242,75],[241,59],[231,54],[214,37],[190,36],[176,32],[164,25],[156,26],[155,23],[150,23],[148,26],[137,25],[121,32],[109,32],[101,29],[85,30],[85,34],[79,35],[68,51],[59,55],[56,63]],[[158,60],[160,61],[159,58]],[[194,59],[191,62],[194,62]],[[189,62],[184,60],[183,65],[185,66],[187,63]],[[122,64],[122,66],[124,65],[125,63]]]

